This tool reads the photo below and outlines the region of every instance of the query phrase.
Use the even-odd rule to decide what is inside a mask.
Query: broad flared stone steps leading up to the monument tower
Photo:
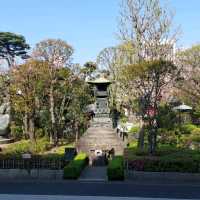
[[[105,152],[112,148],[115,150],[115,155],[121,155],[124,143],[112,128],[111,119],[105,117],[94,118],[90,128],[77,144],[77,150],[86,152],[88,155],[94,154],[95,150]]]

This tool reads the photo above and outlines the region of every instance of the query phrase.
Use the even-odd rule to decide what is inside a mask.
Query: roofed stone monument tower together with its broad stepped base
[[[87,81],[93,86],[95,96],[94,113],[90,127],[77,143],[78,152],[83,151],[89,155],[90,163],[102,165],[105,156],[114,150],[115,154],[123,154],[123,141],[117,136],[112,127],[112,119],[109,117],[109,92],[111,81],[104,77]],[[96,163],[96,164],[95,164]]]

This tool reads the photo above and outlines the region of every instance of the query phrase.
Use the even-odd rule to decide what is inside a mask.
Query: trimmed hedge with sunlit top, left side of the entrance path
[[[82,170],[88,164],[88,157],[85,153],[79,153],[74,160],[64,167],[64,179],[77,179]]]

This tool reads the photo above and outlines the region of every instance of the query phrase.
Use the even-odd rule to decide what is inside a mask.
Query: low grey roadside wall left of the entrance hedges
[[[61,180],[63,170],[48,169],[0,169],[0,179],[51,179]]]

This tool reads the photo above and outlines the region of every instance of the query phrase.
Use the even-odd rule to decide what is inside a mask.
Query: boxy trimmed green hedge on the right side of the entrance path
[[[122,156],[115,156],[109,161],[107,167],[108,180],[124,180],[124,159]]]

